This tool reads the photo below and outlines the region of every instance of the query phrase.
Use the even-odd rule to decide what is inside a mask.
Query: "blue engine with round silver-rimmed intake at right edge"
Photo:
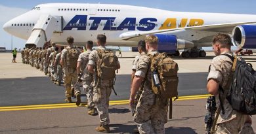
[[[234,27],[232,43],[237,48],[256,48],[256,25],[238,25]]]

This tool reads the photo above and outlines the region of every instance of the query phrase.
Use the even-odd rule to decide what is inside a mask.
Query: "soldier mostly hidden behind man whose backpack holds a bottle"
[[[140,56],[144,56],[146,54],[146,42],[145,41],[139,41],[138,42],[138,49],[139,49],[139,56],[136,56],[135,59],[133,59],[133,67],[132,67],[132,73],[131,73],[131,85],[133,82],[133,78],[135,76],[135,73],[137,71],[137,64],[139,61]],[[132,106],[132,112],[135,112],[135,105]],[[139,133],[139,130],[133,129],[133,133]]]

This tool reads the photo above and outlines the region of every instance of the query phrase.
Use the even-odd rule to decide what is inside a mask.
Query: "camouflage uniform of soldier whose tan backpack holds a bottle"
[[[148,54],[154,55],[156,51]],[[143,55],[137,62],[135,76],[146,78],[146,82],[135,109],[134,120],[140,133],[165,133],[168,102],[167,99],[160,101],[151,89],[150,60],[150,57]]]

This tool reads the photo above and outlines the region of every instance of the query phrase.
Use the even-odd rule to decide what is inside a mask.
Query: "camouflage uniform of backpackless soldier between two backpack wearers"
[[[80,84],[77,84],[76,89],[77,92],[80,92],[79,86],[83,84],[83,90],[85,91],[87,96],[88,108],[92,109],[93,107],[95,107],[95,104],[93,103],[93,88],[90,88],[91,83],[93,82],[93,75],[90,74],[87,70],[90,53],[91,51],[87,50],[86,52],[81,53],[79,55],[79,58],[77,59],[77,61],[81,62],[81,73],[83,73],[83,75],[81,76],[82,82]]]

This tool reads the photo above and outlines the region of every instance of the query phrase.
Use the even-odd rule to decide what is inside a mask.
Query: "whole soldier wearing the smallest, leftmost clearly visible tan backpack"
[[[76,65],[80,51],[74,48],[74,38],[67,37],[68,46],[62,50],[60,64],[64,68],[64,83],[66,88],[66,103],[72,103],[72,84],[77,81]],[[75,94],[77,103],[81,102],[81,96],[79,93]]]

